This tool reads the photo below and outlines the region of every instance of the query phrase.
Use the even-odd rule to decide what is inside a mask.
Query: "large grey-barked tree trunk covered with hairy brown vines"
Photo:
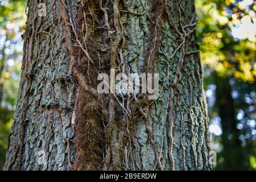
[[[212,168],[193,1],[38,3],[5,169]],[[110,69],[159,73],[159,97],[98,93]]]

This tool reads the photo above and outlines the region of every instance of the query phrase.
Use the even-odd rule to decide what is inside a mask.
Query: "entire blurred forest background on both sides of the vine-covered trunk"
[[[216,170],[256,170],[256,2],[195,0]],[[26,0],[0,0],[0,169],[18,97]]]

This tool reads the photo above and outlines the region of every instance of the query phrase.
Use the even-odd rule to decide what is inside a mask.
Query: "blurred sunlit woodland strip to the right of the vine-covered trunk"
[[[196,2],[216,168],[256,169],[255,2]]]

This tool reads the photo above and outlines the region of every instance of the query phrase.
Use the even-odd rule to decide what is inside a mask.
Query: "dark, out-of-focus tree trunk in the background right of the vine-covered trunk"
[[[221,155],[224,158],[225,170],[245,169],[245,157],[243,156],[242,142],[239,139],[240,131],[237,129],[236,107],[232,98],[232,88],[228,77],[220,77],[214,74],[218,113],[221,118],[223,134]],[[220,166],[219,166],[220,167]]]

